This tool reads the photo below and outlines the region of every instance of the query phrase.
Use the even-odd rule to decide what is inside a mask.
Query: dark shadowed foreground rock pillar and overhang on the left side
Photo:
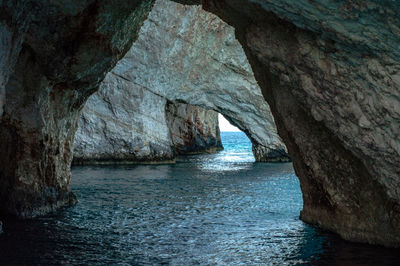
[[[0,209],[70,204],[80,109],[131,46],[152,1],[0,2]]]

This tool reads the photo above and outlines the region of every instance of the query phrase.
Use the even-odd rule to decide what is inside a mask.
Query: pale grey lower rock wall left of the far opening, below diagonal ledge
[[[167,100],[151,91],[108,82],[87,101],[75,134],[74,163],[172,161]]]

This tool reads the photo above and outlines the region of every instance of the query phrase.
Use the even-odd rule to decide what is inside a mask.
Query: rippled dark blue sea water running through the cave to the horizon
[[[243,133],[175,165],[75,167],[80,202],[6,221],[0,264],[396,265],[399,250],[351,244],[298,219],[291,164],[255,163]]]

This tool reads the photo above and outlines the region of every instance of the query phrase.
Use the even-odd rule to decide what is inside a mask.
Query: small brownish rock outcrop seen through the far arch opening
[[[169,102],[166,119],[177,153],[204,153],[222,150],[218,113],[184,103]]]

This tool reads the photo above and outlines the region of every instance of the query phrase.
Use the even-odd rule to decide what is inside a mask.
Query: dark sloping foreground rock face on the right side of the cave
[[[400,4],[203,7],[236,29],[300,179],[301,218],[347,240],[400,246]]]

